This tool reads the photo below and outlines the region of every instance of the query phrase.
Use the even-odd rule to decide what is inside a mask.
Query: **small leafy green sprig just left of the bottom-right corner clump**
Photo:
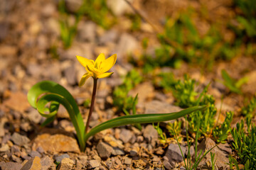
[[[219,143],[225,143],[228,138],[228,134],[231,132],[230,123],[233,120],[233,112],[227,112],[223,124],[213,129],[213,137]]]

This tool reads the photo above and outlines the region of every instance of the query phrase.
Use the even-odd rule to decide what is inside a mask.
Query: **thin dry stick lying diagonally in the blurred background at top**
[[[149,23],[149,25],[153,28],[154,33],[155,33],[156,35],[159,34],[159,32],[160,32],[159,29],[158,29],[156,26],[154,26],[154,24],[151,23],[151,21],[149,21],[148,18],[146,18],[145,16],[143,16],[142,13],[140,13],[140,12],[137,10],[137,8],[134,8],[134,6],[132,6],[132,4],[131,4],[128,0],[124,0],[124,1],[126,1],[127,4],[132,8],[132,10],[133,10],[135,13],[137,13],[144,21],[146,21],[146,23]],[[167,38],[164,38],[164,42],[166,42],[167,44],[169,44],[169,45],[171,45],[171,46],[173,46],[173,47],[175,47],[175,48],[178,47],[178,43],[177,43],[177,42],[174,42],[174,41],[169,40],[169,39],[167,39]]]

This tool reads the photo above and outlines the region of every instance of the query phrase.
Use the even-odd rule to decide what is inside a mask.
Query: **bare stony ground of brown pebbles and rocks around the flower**
[[[162,8],[156,10],[161,11],[159,16],[166,11],[161,3],[155,6],[155,10]],[[176,1],[171,10],[187,6],[183,3]],[[154,11],[149,10],[155,5],[154,1],[149,1],[149,4],[142,6],[138,2],[134,6],[152,18],[152,22],[156,22]],[[132,57],[137,57],[142,54],[141,41],[144,35],[150,37],[152,48],[159,42],[154,29],[147,22],[138,32],[129,31],[131,23],[124,18],[123,13],[132,12],[132,9],[127,4],[118,5],[119,8],[113,7],[112,10],[122,22],[110,30],[104,30],[85,17],[78,25],[73,45],[65,50],[59,40],[58,5],[55,1],[0,2],[0,169],[184,169],[176,140],[167,146],[161,145],[152,125],[142,125],[142,131],[132,125],[104,130],[87,142],[85,152],[80,152],[75,129],[64,108],[60,107],[58,118],[51,125],[41,128],[44,118],[27,101],[26,94],[33,84],[52,80],[73,94],[86,118],[89,109],[83,107],[83,102],[90,98],[92,80],[88,79],[85,86],[78,87],[85,70],[75,55],[94,60],[100,52],[106,56],[117,53],[117,64],[112,68],[114,74],[110,78],[100,79],[90,127],[124,115],[113,106],[112,91],[133,68],[127,62],[127,56],[132,54]],[[199,4],[195,2],[193,5]],[[225,13],[225,8],[221,10]],[[53,55],[53,49],[57,57]],[[216,107],[220,109],[223,98],[222,113],[238,113],[244,96],[227,93],[225,86],[216,79],[221,79],[220,71],[223,68],[235,78],[248,76],[250,80],[242,87],[242,91],[245,96],[252,96],[256,92],[255,65],[255,59],[251,57],[237,57],[231,62],[216,63],[211,72],[202,72],[202,69],[186,63],[182,64],[181,69],[173,71],[176,77],[189,72],[199,84],[206,85],[212,81],[209,94],[215,96]],[[137,93],[139,113],[181,110],[174,106],[171,94],[159,91],[150,80],[130,92],[133,96]],[[220,115],[220,120],[224,119]],[[233,125],[239,120],[240,115],[235,115]],[[206,137],[198,148],[206,150],[214,145],[215,142]],[[186,142],[183,142],[181,149],[188,152]],[[218,145],[214,152],[217,154],[218,169],[228,169],[228,154],[233,153],[230,145]],[[193,147],[191,154],[194,154]],[[208,164],[209,160],[210,156],[207,156],[201,164]]]

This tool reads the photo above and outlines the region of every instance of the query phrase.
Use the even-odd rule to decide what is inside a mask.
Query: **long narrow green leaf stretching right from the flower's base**
[[[112,120],[107,120],[105,123],[97,125],[95,128],[92,128],[90,132],[85,134],[85,141],[89,139],[92,135],[95,135],[97,132],[106,130],[108,128],[114,128],[121,125],[130,125],[136,123],[157,123],[164,122],[168,120],[174,120],[181,118],[184,115],[192,113],[194,111],[201,111],[205,109],[206,106],[195,106],[192,108],[187,108],[183,111],[175,113],[161,113],[161,114],[143,114],[143,115],[124,115],[119,118],[114,118]]]

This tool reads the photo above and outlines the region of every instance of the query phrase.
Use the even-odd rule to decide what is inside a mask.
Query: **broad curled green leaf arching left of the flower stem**
[[[42,116],[47,118],[43,125],[47,125],[54,120],[58,106],[62,104],[67,109],[75,127],[80,149],[85,149],[85,125],[82,115],[75,99],[63,86],[53,81],[41,81],[28,91],[28,102],[33,108],[37,108]],[[46,108],[48,103],[50,103],[50,106]]]

